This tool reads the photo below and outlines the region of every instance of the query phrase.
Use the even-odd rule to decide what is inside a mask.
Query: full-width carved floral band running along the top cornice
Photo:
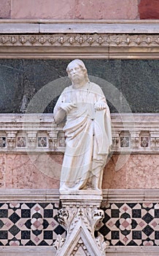
[[[0,45],[125,45],[151,46],[159,45],[159,37],[155,35],[107,35],[107,34],[52,34],[52,35],[1,35]]]

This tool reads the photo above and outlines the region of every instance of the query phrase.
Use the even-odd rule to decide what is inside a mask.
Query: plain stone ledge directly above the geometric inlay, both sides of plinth
[[[53,201],[59,202],[58,189],[0,189],[1,201]],[[88,195],[89,197],[89,195]],[[103,189],[103,201],[158,202],[159,189]]]

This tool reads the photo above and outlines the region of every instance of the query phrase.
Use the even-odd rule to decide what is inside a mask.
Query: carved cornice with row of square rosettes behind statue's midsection
[[[158,113],[112,113],[112,151],[120,154],[159,153]],[[53,114],[0,114],[1,153],[65,151],[63,124]]]

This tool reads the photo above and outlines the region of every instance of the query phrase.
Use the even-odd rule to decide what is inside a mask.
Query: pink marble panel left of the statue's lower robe
[[[7,154],[6,188],[58,189],[62,154]]]

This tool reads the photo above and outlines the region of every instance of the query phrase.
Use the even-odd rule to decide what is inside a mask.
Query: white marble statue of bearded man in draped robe
[[[88,79],[80,59],[71,61],[66,72],[71,86],[63,90],[53,111],[56,124],[66,118],[60,192],[101,191],[103,170],[112,144],[109,107],[101,88]]]

